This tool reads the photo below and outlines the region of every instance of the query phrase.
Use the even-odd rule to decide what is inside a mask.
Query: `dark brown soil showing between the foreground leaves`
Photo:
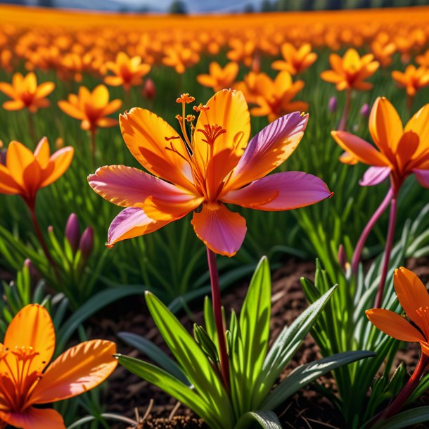
[[[429,279],[429,264],[427,260],[410,260],[407,266],[421,276],[423,281]],[[285,324],[290,324],[307,307],[307,301],[300,286],[300,277],[314,278],[314,263],[289,260],[286,265],[276,271],[273,276],[272,309],[271,309],[271,341],[277,337]],[[241,302],[247,292],[248,284],[243,283],[241,287],[230,289],[224,293],[222,302],[226,309],[239,309]],[[183,315],[181,322],[191,331],[194,321],[203,320],[201,302],[191,305],[191,316]],[[112,316],[113,314],[113,316]],[[192,319],[191,319],[192,317]],[[153,324],[143,298],[126,300],[115,304],[115,307],[106,310],[106,316],[98,321],[94,320],[94,331],[92,337],[112,339],[118,343],[118,351],[134,357],[140,357],[136,350],[124,345],[116,333],[127,331],[143,335],[155,342],[163,350],[168,352],[167,347]],[[319,359],[318,347],[310,335],[307,335],[302,346],[295,357],[283,372],[281,379],[285,378],[296,366],[305,364],[314,359]],[[404,361],[409,371],[412,371],[418,359],[418,347],[409,347],[407,350],[398,352],[398,361]],[[320,380],[319,380],[320,381]],[[322,378],[321,383],[332,385],[332,378]],[[428,397],[421,399],[421,404],[427,403]],[[105,397],[106,411],[122,414],[130,418],[136,418],[136,410],[139,416],[143,416],[150,404],[150,413],[139,428],[207,428],[206,425],[184,406],[176,406],[177,401],[155,386],[129,373],[123,367],[118,367],[110,378],[108,394]],[[172,410],[174,409],[173,413]],[[175,417],[171,417],[174,414]],[[297,392],[284,404],[281,409],[276,410],[280,417],[283,428],[342,428],[342,421],[338,410],[331,402],[321,396],[311,385]],[[425,428],[420,425],[419,428]],[[124,428],[124,425],[113,425],[112,428]]]

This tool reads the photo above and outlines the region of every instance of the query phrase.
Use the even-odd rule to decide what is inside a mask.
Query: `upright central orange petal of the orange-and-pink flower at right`
[[[369,132],[380,151],[395,153],[404,129],[397,111],[387,98],[379,97],[369,115]]]

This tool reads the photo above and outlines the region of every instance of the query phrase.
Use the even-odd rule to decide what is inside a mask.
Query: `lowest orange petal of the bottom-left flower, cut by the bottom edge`
[[[23,429],[65,429],[63,417],[58,411],[48,408],[30,407],[22,413],[6,413],[0,411],[0,421]]]

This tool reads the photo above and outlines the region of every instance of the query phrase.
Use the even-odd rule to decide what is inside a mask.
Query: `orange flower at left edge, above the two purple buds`
[[[46,137],[39,141],[34,153],[19,141],[12,141],[6,151],[6,164],[0,164],[0,193],[18,194],[27,203],[34,203],[40,188],[59,179],[72,162],[71,146],[51,155]]]

